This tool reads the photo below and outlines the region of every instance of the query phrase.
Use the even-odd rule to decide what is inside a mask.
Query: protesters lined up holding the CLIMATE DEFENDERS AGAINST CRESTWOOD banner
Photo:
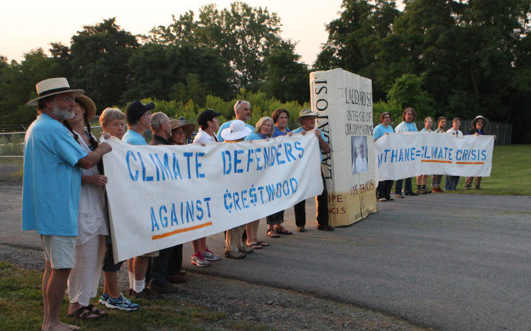
[[[90,120],[96,106],[83,95],[83,90],[70,88],[65,78],[46,79],[37,83],[37,99],[28,102],[37,107],[37,119],[26,132],[23,173],[23,230],[40,234],[46,267],[43,274],[43,323],[41,330],[79,330],[77,325],[59,321],[59,310],[65,291],[70,305],[68,314],[79,319],[99,319],[106,315],[90,304],[97,295],[100,272],[103,271],[101,305],[120,310],[137,310],[139,305],[127,299],[117,286],[117,272],[123,261],[114,263],[110,239],[103,154],[111,151],[91,133]],[[154,112],[154,103],[135,100],[124,114],[118,108],[106,108],[99,117],[104,139],[116,137],[132,145],[147,145],[143,132],[153,132],[150,145],[184,145],[194,132],[193,123],[170,119]],[[271,117],[262,117],[256,128],[248,122],[251,105],[239,100],[234,104],[235,119],[219,126],[221,112],[212,109],[199,114],[199,130],[193,143],[205,146],[224,141],[274,139],[282,135],[305,134],[313,129],[322,152],[330,152],[328,141],[315,128],[317,114],[304,108],[296,121],[297,130],[288,128],[288,110],[278,108]],[[127,126],[127,130],[126,130]],[[216,134],[217,132],[217,134]],[[321,159],[322,161],[322,159]],[[316,197],[317,229],[333,231],[328,224],[328,192]],[[294,205],[297,231],[305,232],[305,201]],[[268,247],[258,235],[259,221],[226,231],[225,257],[242,259],[254,250]],[[267,236],[279,238],[292,234],[283,227],[283,211],[269,215]],[[209,250],[206,238],[192,241],[190,262],[205,267],[221,255]],[[183,245],[175,245],[127,260],[128,297],[152,299],[174,292],[168,283],[186,281],[181,270]]]

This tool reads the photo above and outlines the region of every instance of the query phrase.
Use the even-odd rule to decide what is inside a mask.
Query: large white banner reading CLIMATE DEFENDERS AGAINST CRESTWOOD
[[[323,191],[314,134],[207,146],[107,141],[115,261],[223,232]]]

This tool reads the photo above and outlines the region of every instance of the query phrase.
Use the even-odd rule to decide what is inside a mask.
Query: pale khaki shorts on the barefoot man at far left
[[[76,257],[77,236],[48,236],[41,234],[44,259],[52,269],[72,269]]]

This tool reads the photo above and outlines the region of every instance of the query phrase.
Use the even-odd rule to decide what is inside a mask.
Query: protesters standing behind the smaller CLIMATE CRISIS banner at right
[[[402,113],[402,121],[399,123],[393,130],[390,126],[392,121],[391,114],[389,112],[383,112],[380,115],[380,124],[374,128],[374,141],[377,141],[384,134],[390,134],[393,132],[417,132],[417,125],[414,123],[415,110],[413,108],[405,108]],[[434,133],[446,133],[453,134],[456,137],[463,137],[463,132],[459,130],[461,127],[461,120],[458,117],[452,119],[452,127],[448,130],[445,130],[446,126],[446,117],[439,117],[437,119],[437,129],[432,130],[433,119],[432,117],[426,117],[424,119],[424,128],[421,132],[434,132]],[[466,132],[466,134],[485,134],[483,128],[487,125],[488,121],[485,117],[479,115],[472,120],[472,128]],[[419,194],[427,193],[444,193],[445,191],[441,189],[441,179],[442,174],[432,174],[432,188],[431,190],[426,188],[428,182],[428,174],[423,174],[417,176],[417,191],[414,192],[412,189],[412,178],[405,179],[405,186],[403,187],[404,179],[399,179],[394,182],[394,194],[397,198],[403,199],[404,195],[418,196]],[[476,190],[481,190],[481,177],[475,177],[476,182],[474,183],[474,188]],[[465,190],[470,190],[472,187],[472,181],[474,177],[466,177],[465,181]],[[445,190],[452,191],[457,189],[457,184],[459,183],[459,176],[446,175],[445,178]],[[391,197],[393,181],[380,181],[377,188],[377,199],[380,202],[392,201],[394,200]],[[403,187],[403,188],[402,188]]]

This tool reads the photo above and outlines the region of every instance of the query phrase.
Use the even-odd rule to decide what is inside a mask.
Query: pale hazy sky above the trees
[[[216,3],[218,9],[229,8],[233,1],[34,1],[19,0],[3,6],[0,12],[0,55],[9,61],[21,61],[23,54],[43,48],[46,54],[50,43],[70,46],[70,38],[83,26],[116,17],[117,24],[132,34],[147,34],[155,26],[168,26],[172,14]],[[248,0],[250,6],[268,8],[281,18],[283,39],[297,41],[295,51],[301,61],[312,65],[328,39],[325,24],[339,17],[341,0]]]

